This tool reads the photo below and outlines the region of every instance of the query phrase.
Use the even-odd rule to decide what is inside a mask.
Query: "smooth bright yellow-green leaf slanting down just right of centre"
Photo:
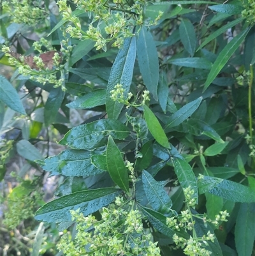
[[[157,120],[157,117],[153,114],[152,110],[149,109],[146,105],[143,106],[144,116],[147,126],[149,128],[150,133],[156,139],[156,141],[161,144],[161,146],[170,148],[170,144],[168,142],[168,138],[166,137],[166,133]]]

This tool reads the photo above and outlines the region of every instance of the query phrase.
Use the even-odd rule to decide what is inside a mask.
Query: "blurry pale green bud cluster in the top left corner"
[[[4,0],[3,11],[10,14],[13,22],[34,26],[48,17],[41,3],[33,0]]]

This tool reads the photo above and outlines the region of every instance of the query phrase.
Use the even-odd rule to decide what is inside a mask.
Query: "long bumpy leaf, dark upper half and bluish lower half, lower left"
[[[71,221],[70,210],[80,208],[80,213],[84,216],[90,215],[110,204],[118,193],[117,188],[98,188],[64,195],[38,209],[34,218],[48,223],[68,222]]]

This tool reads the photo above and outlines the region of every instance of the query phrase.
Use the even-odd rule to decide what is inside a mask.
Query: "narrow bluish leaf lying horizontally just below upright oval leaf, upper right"
[[[212,63],[203,57],[168,59],[166,63],[175,64],[177,66],[187,66],[188,68],[201,68],[203,70],[210,70],[212,68]]]

